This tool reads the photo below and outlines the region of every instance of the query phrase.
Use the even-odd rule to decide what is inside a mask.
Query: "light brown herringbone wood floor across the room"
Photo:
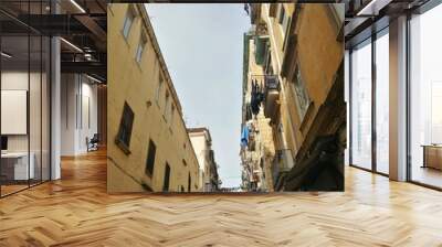
[[[106,194],[106,157],[0,200],[0,246],[442,246],[442,193],[348,168],[345,193]]]

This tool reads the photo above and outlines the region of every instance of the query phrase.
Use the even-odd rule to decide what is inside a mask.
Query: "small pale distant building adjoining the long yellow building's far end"
[[[218,164],[212,150],[212,137],[208,128],[189,128],[190,141],[198,158],[199,186],[201,192],[219,190]]]

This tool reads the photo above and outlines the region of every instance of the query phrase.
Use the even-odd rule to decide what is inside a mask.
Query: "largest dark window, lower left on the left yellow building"
[[[130,146],[130,136],[131,136],[131,127],[134,124],[134,111],[125,103],[123,109],[122,121],[119,124],[119,130],[116,138],[116,143],[125,151],[125,153],[129,153]]]

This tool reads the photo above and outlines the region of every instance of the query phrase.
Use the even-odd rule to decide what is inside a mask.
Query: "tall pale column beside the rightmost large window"
[[[390,179],[407,180],[407,17],[390,22]]]

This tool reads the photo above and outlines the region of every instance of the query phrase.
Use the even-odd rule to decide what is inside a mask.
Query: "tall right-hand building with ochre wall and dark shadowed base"
[[[256,79],[257,93],[251,94],[257,95],[256,104],[272,127],[275,151],[266,176],[272,178],[267,186],[274,191],[343,190],[346,105],[340,7],[250,4],[255,50],[249,52],[254,52],[263,77]],[[330,153],[323,161],[319,149],[325,147]]]

